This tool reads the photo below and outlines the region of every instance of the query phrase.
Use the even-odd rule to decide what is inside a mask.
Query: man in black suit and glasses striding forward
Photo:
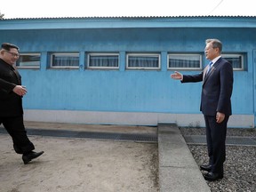
[[[17,154],[22,154],[24,164],[41,156],[44,151],[34,152],[34,145],[28,140],[23,124],[22,97],[27,93],[21,85],[21,76],[13,68],[19,59],[19,47],[4,43],[0,50],[0,124],[11,135],[13,148]]]

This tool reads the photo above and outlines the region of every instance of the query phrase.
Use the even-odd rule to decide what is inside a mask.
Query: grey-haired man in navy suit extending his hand
[[[223,164],[226,159],[226,134],[228,117],[231,116],[231,95],[233,90],[232,65],[221,58],[222,44],[218,39],[205,41],[204,53],[211,60],[204,71],[195,76],[183,76],[175,71],[173,79],[181,83],[201,82],[202,95],[200,110],[204,114],[209,164],[200,165],[205,180],[223,178]]]

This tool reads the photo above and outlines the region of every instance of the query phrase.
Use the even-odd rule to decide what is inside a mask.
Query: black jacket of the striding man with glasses
[[[16,85],[21,84],[19,72],[0,59],[0,116],[23,115],[22,98],[12,92]]]

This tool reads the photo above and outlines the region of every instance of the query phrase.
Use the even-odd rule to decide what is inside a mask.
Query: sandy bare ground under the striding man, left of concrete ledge
[[[61,124],[60,128],[64,127]],[[148,132],[145,128],[138,129]],[[103,132],[101,127],[97,129]],[[126,129],[135,132],[131,126]],[[12,149],[11,137],[0,134],[0,192],[159,191],[157,143],[44,136],[29,139],[36,151],[44,150],[44,154],[23,164]]]

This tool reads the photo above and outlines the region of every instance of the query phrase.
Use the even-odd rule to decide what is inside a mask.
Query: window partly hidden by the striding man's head
[[[40,53],[20,53],[16,62],[18,68],[40,68]]]

